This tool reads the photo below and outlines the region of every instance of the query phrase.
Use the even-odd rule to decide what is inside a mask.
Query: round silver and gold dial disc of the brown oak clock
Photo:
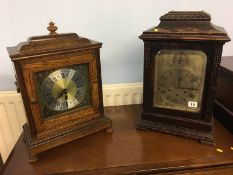
[[[63,111],[77,106],[84,96],[83,77],[73,69],[59,69],[43,81],[44,104],[55,111]]]

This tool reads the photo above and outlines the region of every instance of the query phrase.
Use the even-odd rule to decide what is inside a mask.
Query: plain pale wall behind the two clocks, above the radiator
[[[104,84],[142,81],[143,43],[138,36],[170,10],[205,10],[212,22],[233,36],[230,0],[0,0],[0,90],[13,90],[14,72],[7,46],[47,34],[54,21],[59,33],[76,32],[103,42]],[[233,55],[227,43],[223,55]]]

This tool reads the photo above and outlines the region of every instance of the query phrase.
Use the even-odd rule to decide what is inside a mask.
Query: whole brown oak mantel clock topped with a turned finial
[[[8,47],[27,115],[23,126],[29,161],[39,153],[106,129],[100,48],[75,33],[36,36]]]

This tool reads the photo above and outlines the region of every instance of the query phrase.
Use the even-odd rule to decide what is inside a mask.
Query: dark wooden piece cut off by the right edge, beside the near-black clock
[[[233,132],[233,56],[223,57],[218,77],[214,112]]]

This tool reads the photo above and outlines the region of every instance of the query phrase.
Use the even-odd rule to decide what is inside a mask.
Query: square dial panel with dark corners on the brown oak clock
[[[90,106],[88,65],[38,72],[37,92],[45,118]]]

